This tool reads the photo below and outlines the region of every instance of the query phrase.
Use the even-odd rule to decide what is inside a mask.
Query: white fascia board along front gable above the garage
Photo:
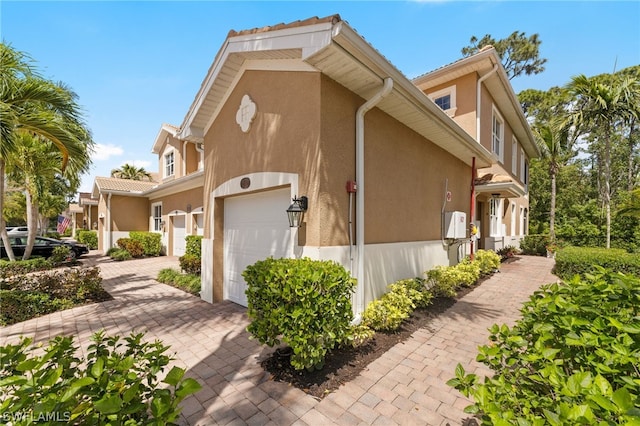
[[[198,114],[200,107],[213,87],[229,55],[233,53],[300,49],[302,57],[305,58],[331,43],[332,26],[332,23],[325,22],[316,25],[286,28],[228,38],[218,52],[214,63],[202,83],[200,91],[195,97],[193,105],[185,116],[183,125],[181,126],[183,130],[180,132],[179,138],[198,138],[199,129],[191,129],[191,123]],[[204,136],[204,132],[202,133],[202,136]]]

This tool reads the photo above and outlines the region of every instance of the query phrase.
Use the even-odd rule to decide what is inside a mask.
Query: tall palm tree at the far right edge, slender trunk
[[[637,118],[640,113],[638,82],[625,77],[603,82],[584,75],[573,77],[567,89],[577,102],[571,114],[574,125],[584,133],[594,131],[602,141],[602,197],[606,211],[607,240],[611,247],[611,132],[620,120]]]

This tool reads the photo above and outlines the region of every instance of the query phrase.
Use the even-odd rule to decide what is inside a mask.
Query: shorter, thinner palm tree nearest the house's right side
[[[549,238],[552,242],[556,240],[556,178],[561,167],[574,155],[575,137],[571,129],[572,127],[566,121],[561,121],[559,118],[549,123],[539,124],[533,129],[542,158],[548,163],[549,177],[551,178]]]

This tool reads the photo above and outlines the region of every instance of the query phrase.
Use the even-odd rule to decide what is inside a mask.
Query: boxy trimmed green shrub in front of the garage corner
[[[295,369],[322,368],[327,352],[347,342],[355,280],[341,265],[269,258],[248,266],[242,276],[251,319],[247,330],[262,344],[288,344]]]

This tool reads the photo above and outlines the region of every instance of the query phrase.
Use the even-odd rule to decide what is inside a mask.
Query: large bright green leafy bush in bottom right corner
[[[638,424],[640,277],[596,267],[542,287],[521,312],[479,348],[493,377],[458,365],[448,382],[475,401],[466,412],[485,425]]]

